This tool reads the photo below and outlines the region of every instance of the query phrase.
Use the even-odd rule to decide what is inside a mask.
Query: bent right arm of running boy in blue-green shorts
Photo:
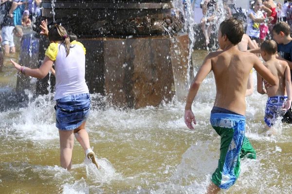
[[[256,72],[264,78],[270,85],[276,85],[276,77],[270,72],[270,70],[260,61],[256,56],[254,58],[254,68]]]

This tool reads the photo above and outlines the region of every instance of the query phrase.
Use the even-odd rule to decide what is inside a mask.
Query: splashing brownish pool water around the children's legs
[[[194,52],[195,71],[205,56],[206,51]],[[1,92],[13,91],[16,85],[17,71],[9,58],[18,56],[5,57]],[[193,104],[195,130],[184,124],[184,102],[174,99],[159,107],[125,111],[98,107],[106,98],[92,94],[87,130],[100,170],[85,159],[77,141],[73,169],[59,167],[52,95],[37,97],[12,110],[8,104],[8,110],[0,112],[0,193],[204,193],[219,157],[220,138],[209,124],[215,94],[211,73]],[[246,98],[246,136],[256,149],[257,159],[242,160],[236,184],[221,193],[292,193],[291,126],[279,123],[271,137],[260,133],[266,100],[256,91]]]

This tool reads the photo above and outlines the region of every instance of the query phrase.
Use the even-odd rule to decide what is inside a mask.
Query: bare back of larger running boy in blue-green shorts
[[[217,88],[214,106],[245,115],[248,77],[254,65],[261,61],[236,47],[210,55]]]

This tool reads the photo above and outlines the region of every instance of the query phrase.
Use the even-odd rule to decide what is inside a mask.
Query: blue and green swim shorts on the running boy
[[[247,154],[256,158],[256,151],[245,137],[245,116],[212,113],[210,122],[221,137],[218,167],[211,180],[219,188],[229,189],[239,176],[240,158]]]

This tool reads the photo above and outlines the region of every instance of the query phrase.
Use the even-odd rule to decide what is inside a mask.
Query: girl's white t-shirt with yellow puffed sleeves
[[[46,56],[55,60],[54,100],[69,95],[89,93],[85,82],[85,52],[80,42],[73,41],[69,55],[66,57],[64,44],[50,44]]]

